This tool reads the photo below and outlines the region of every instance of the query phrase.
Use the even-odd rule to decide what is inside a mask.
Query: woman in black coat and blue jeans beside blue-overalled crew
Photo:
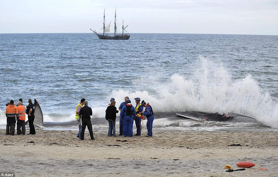
[[[109,123],[109,130],[108,130],[108,136],[116,136],[116,130],[115,130],[115,125],[116,125],[116,113],[118,113],[119,111],[117,110],[117,108],[115,107],[116,105],[116,101],[111,101],[110,105],[107,107],[106,111],[105,111],[105,119],[108,121]],[[111,131],[113,126],[113,133]]]

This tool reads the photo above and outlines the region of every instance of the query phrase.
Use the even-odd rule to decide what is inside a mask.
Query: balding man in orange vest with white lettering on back
[[[26,128],[25,128],[25,112],[26,112],[26,108],[25,106],[22,105],[22,102],[19,101],[17,103],[17,107],[16,107],[17,111],[18,111],[18,119],[17,119],[17,135],[25,135],[26,132]],[[22,129],[22,131],[20,130],[20,128]]]

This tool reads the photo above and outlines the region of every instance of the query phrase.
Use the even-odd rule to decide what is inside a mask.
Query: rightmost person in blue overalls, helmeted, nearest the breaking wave
[[[145,107],[145,111],[142,111],[142,115],[145,115],[147,117],[147,130],[148,130],[148,134],[146,137],[150,137],[152,136],[152,123],[154,121],[154,113],[152,111],[152,107],[150,106],[149,103],[146,103],[144,100],[141,103],[142,106]]]

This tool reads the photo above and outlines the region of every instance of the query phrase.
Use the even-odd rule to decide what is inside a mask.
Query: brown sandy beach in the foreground
[[[28,133],[27,131],[26,133]],[[0,173],[15,176],[278,176],[278,132],[163,131],[154,137],[107,137],[94,131],[4,135]],[[237,144],[237,145],[235,145]],[[239,145],[238,145],[239,144]],[[232,146],[231,146],[232,145]],[[250,161],[268,170],[225,172]],[[252,167],[259,169],[259,167]]]

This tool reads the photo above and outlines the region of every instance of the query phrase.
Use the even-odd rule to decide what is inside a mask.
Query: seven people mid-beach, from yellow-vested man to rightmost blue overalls
[[[154,121],[154,113],[152,107],[149,103],[144,100],[140,103],[141,99],[139,97],[135,98],[135,107],[131,104],[131,100],[129,97],[124,98],[124,102],[122,102],[119,106],[120,111],[120,120],[119,120],[119,136],[124,135],[124,137],[132,137],[133,136],[133,123],[135,121],[136,125],[136,136],[141,136],[142,126],[141,119],[144,120],[147,118],[147,130],[148,133],[146,137],[152,137],[152,124]],[[84,106],[83,106],[84,105]],[[110,99],[109,106],[105,111],[105,119],[108,121],[109,129],[108,136],[116,136],[116,114],[119,112],[115,107],[116,101],[114,98]],[[145,107],[145,111],[143,110]],[[92,109],[88,107],[88,101],[82,98],[80,103],[77,104],[75,108],[75,119],[78,121],[79,132],[77,133],[77,137],[81,140],[84,140],[84,132],[86,126],[88,127],[91,139],[94,140],[92,123],[91,119]]]

